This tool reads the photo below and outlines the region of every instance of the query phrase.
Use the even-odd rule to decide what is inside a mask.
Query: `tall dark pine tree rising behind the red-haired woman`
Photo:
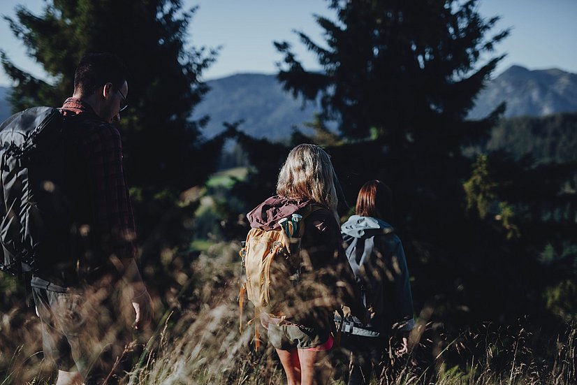
[[[342,136],[356,142],[335,148],[349,201],[365,180],[383,177],[402,191],[400,212],[420,207],[453,220],[471,167],[461,148],[485,138],[502,112],[465,119],[502,59],[481,57],[509,31],[488,37],[498,17],[481,17],[476,0],[328,2],[337,20],[316,17],[323,44],[298,33],[323,71],[306,71],[288,43],[275,43],[284,55],[279,80],[295,96],[320,95],[321,118],[337,120]],[[374,141],[371,150],[358,140]]]

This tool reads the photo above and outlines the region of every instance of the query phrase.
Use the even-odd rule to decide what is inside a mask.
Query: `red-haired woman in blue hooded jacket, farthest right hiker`
[[[347,317],[343,344],[351,349],[349,385],[369,384],[372,372],[380,375],[388,339],[400,331],[407,352],[407,336],[414,326],[409,270],[401,240],[390,226],[393,200],[379,180],[366,182],[358,193],[356,215],[341,226],[346,256],[370,313],[368,324]]]

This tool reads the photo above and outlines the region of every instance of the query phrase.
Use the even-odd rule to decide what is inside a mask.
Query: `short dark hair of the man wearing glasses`
[[[92,94],[108,82],[114,89],[122,87],[128,78],[128,70],[122,59],[109,52],[89,53],[80,59],[74,73],[74,91]]]

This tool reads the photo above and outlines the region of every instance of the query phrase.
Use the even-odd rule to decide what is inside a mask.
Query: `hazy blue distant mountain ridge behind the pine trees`
[[[240,73],[207,82],[210,91],[193,111],[193,119],[210,116],[207,138],[224,131],[224,122],[244,119],[239,129],[257,138],[282,140],[293,127],[312,122],[318,103],[295,100],[275,75]],[[8,88],[0,87],[0,122],[10,116]],[[559,69],[530,71],[511,66],[491,80],[476,98],[469,118],[485,117],[502,101],[506,117],[577,112],[577,74]]]

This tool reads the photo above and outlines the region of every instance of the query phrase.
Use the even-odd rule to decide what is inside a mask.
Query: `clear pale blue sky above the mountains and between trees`
[[[96,1],[96,0],[95,0]],[[217,62],[204,73],[205,80],[242,72],[275,73],[275,62],[282,59],[272,41],[289,41],[305,68],[318,68],[314,57],[298,43],[293,29],[305,31],[321,42],[321,28],[314,13],[334,18],[325,0],[184,0],[186,7],[198,5],[190,29],[189,43],[216,47],[222,45]],[[44,0],[0,0],[0,15],[13,16],[17,4],[40,13]],[[497,74],[512,64],[529,69],[561,68],[577,73],[577,0],[481,0],[481,15],[501,15],[495,33],[512,27],[511,35],[497,47],[509,55]],[[5,20],[0,20],[0,48],[13,62],[42,76],[41,67],[25,55]],[[8,85],[0,69],[0,85]]]

